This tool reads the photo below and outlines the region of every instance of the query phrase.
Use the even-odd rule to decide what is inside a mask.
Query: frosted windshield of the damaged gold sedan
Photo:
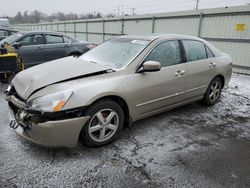
[[[148,43],[148,40],[115,38],[100,44],[80,58],[114,69],[121,69],[128,65]]]

